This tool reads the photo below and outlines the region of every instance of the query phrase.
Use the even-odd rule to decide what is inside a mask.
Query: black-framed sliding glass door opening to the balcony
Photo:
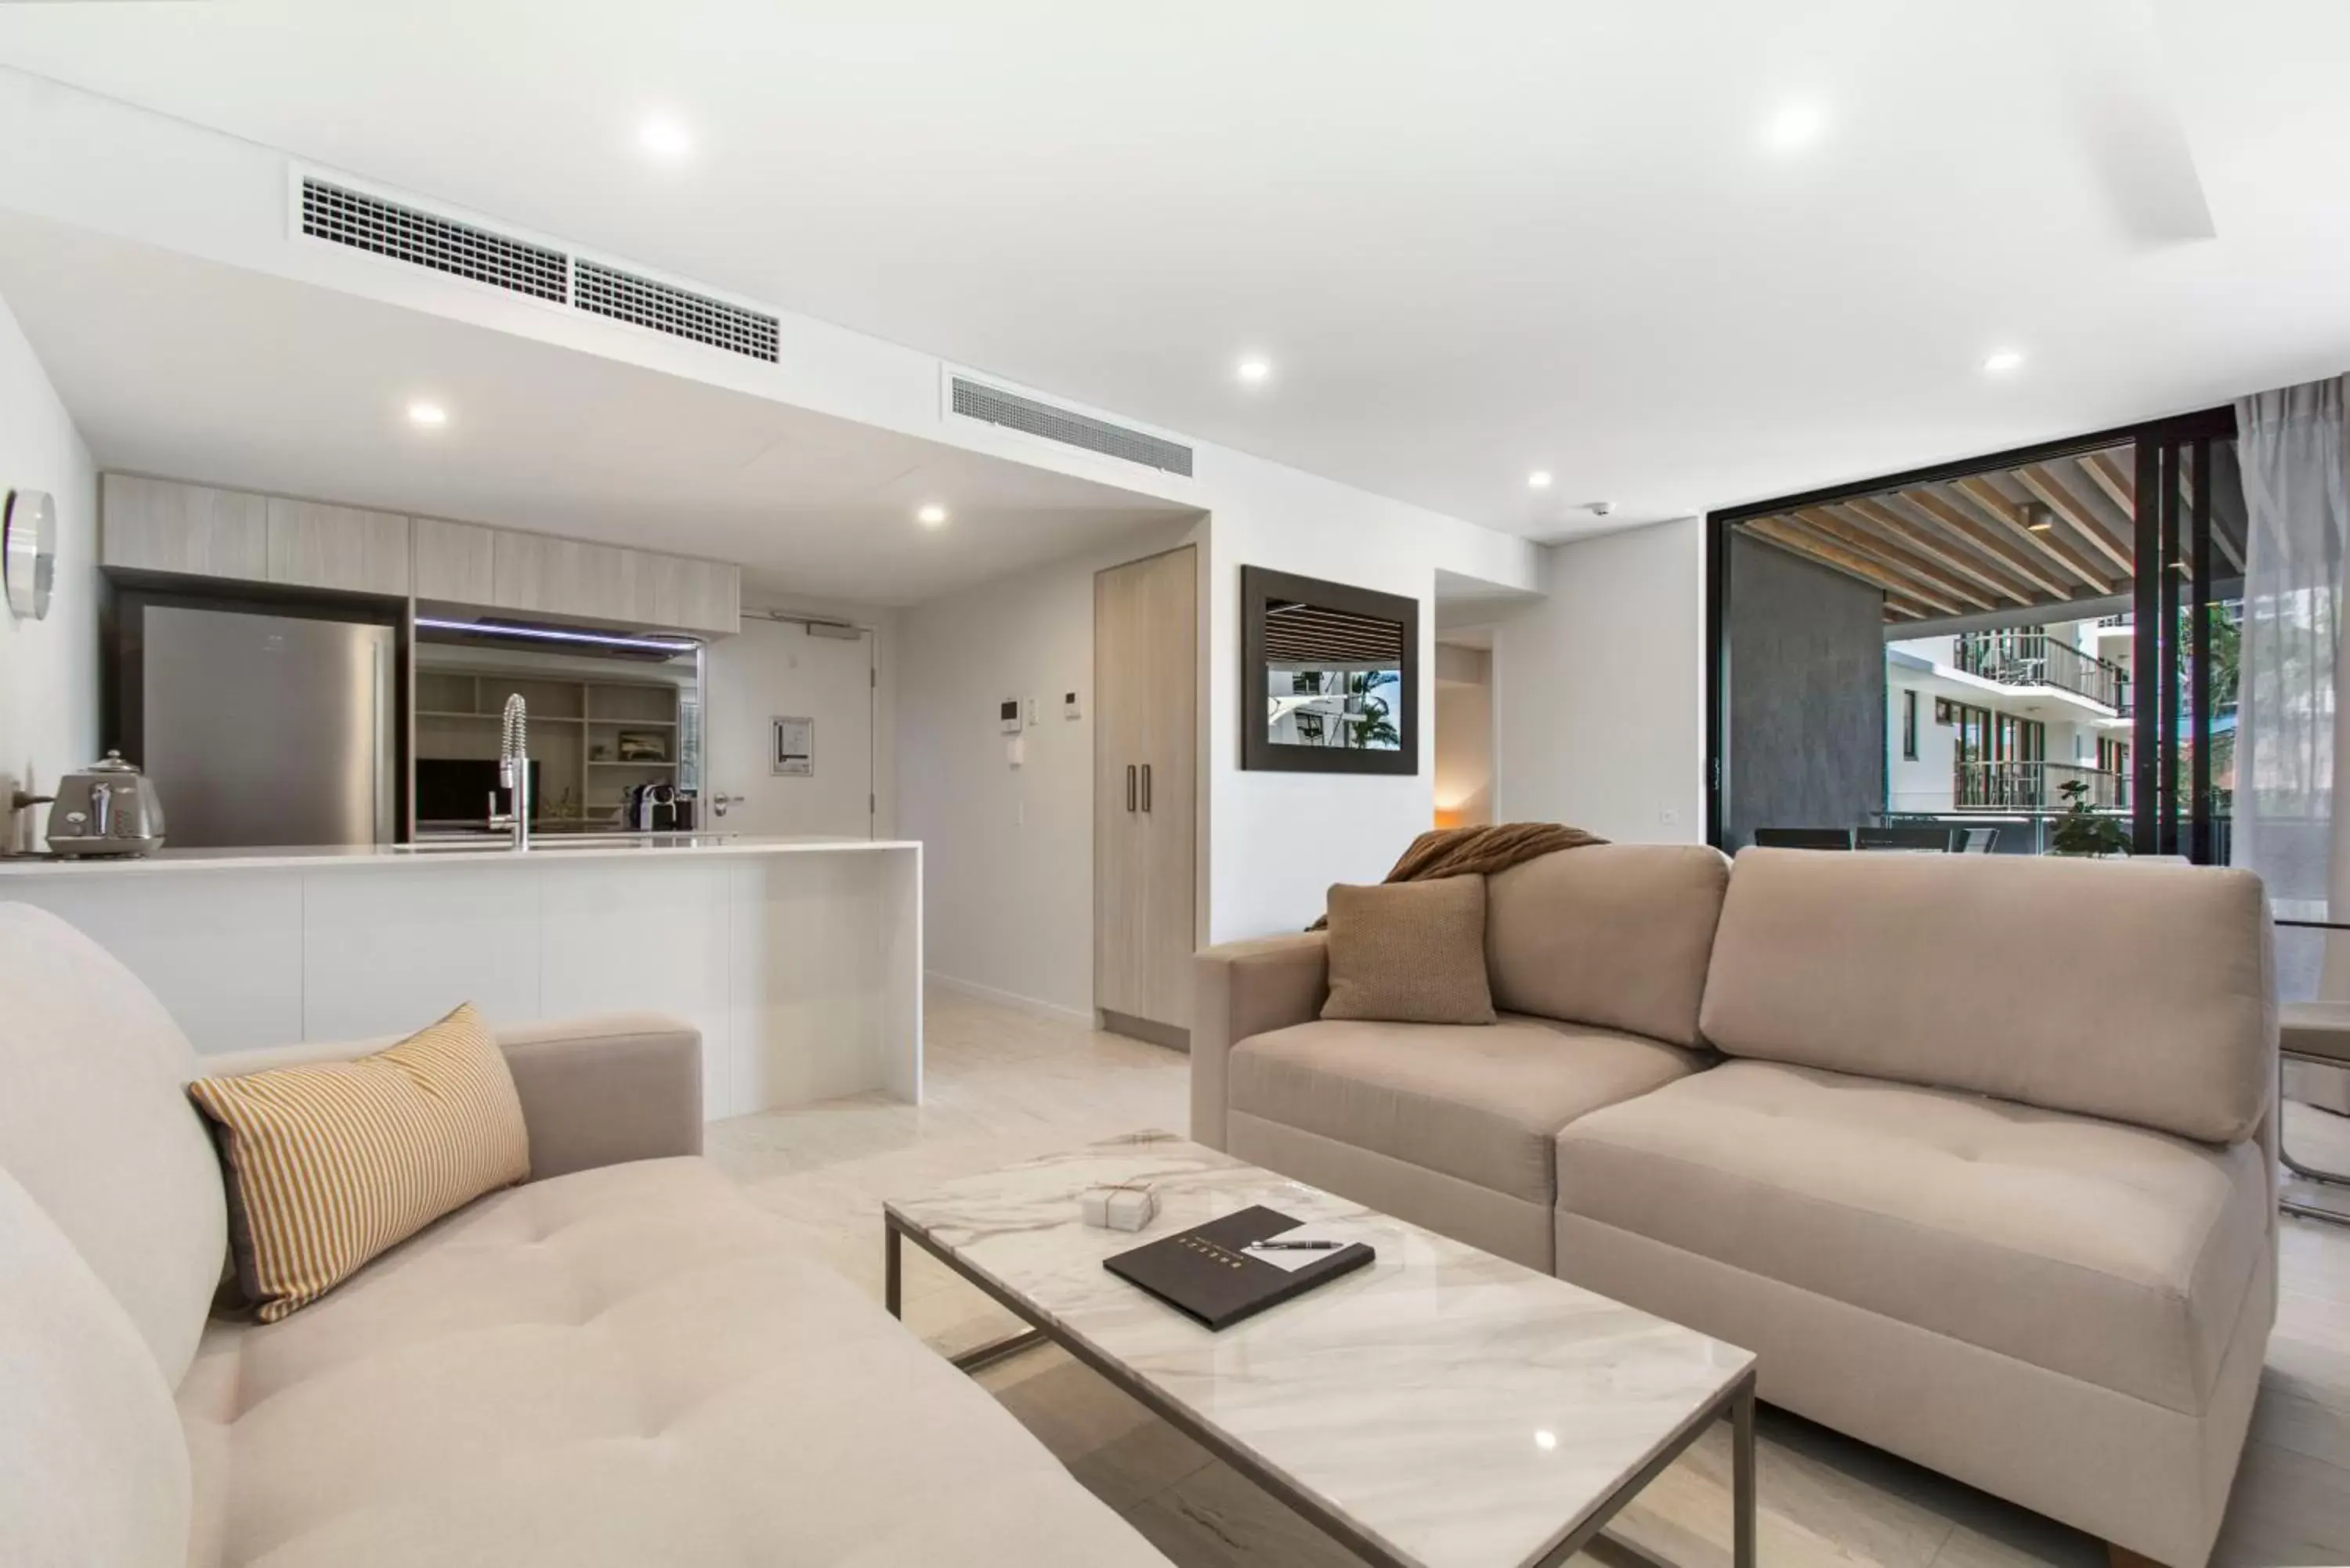
[[[2228,858],[2230,409],[1708,520],[1716,844]]]

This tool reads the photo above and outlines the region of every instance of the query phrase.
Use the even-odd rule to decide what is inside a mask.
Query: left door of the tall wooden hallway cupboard
[[[1142,1016],[1140,576],[1093,578],[1093,1004]]]

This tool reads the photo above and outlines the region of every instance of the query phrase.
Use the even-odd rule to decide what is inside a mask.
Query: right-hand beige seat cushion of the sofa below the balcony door
[[[1570,1124],[1558,1192],[1565,1213],[2195,1413],[2268,1237],[2261,1159],[1725,1063]]]

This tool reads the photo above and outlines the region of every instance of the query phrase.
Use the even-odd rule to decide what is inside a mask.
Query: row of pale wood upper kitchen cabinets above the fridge
[[[120,473],[103,477],[101,496],[99,564],[115,571],[743,630],[743,574],[726,562]]]

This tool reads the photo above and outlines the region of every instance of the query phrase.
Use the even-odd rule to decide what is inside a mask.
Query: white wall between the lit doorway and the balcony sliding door
[[[1546,555],[1549,597],[1495,628],[1499,820],[1701,844],[1704,524],[1683,517]]]

